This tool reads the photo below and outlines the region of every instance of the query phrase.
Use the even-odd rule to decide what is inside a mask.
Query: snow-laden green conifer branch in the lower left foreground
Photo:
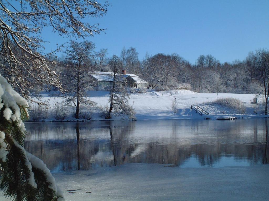
[[[64,200],[47,166],[23,148],[27,107],[0,74],[0,188],[12,200]]]

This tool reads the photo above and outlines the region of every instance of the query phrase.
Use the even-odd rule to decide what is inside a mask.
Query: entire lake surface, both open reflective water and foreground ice
[[[25,148],[67,201],[268,201],[268,120],[29,122]]]

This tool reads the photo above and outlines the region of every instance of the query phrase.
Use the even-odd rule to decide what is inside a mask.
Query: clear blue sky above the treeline
[[[139,59],[146,52],[175,52],[194,64],[200,54],[232,62],[245,59],[249,51],[269,48],[269,0],[109,2],[107,15],[87,19],[107,30],[86,38],[95,43],[96,50],[107,48],[109,56],[133,46]],[[48,28],[43,37],[50,41],[45,44],[47,51],[69,40]]]

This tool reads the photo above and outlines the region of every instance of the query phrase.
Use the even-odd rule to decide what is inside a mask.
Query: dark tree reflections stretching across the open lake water
[[[206,124],[209,123],[205,123],[203,126],[207,131]],[[38,128],[39,130],[37,128],[34,128],[35,132],[39,132],[41,129],[41,127]],[[150,140],[140,142],[134,137],[136,136],[135,122],[119,125],[111,121],[95,128],[76,124],[62,129],[57,126],[54,131],[49,128],[49,132],[55,132],[56,136],[65,136],[66,132],[69,135],[72,133],[71,138],[26,141],[25,147],[32,154],[43,159],[48,167],[55,171],[91,169],[123,163],[160,163],[181,166],[190,157],[197,158],[201,166],[213,166],[220,161],[222,156],[249,160],[250,163],[267,164],[269,150],[267,119],[262,127],[254,124],[252,143],[250,141],[245,144],[242,141],[238,143],[236,140],[242,140],[243,137],[236,134],[240,132],[239,128],[232,128],[233,130],[230,130],[226,136],[220,133],[215,141],[206,144],[197,143],[199,140],[195,138],[190,141],[182,141],[181,128],[176,121],[172,123],[170,137],[159,137],[153,142]],[[42,129],[41,131],[47,135],[48,129]],[[191,132],[200,132],[201,128],[193,125],[192,129],[197,131]],[[261,133],[261,130],[264,133]],[[204,131],[204,133],[206,132]],[[199,137],[203,139],[203,135],[199,135]],[[193,141],[194,144],[192,144]],[[230,141],[233,143],[225,143]]]

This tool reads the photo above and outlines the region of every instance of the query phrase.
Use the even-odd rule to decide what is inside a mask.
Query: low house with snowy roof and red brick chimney
[[[113,84],[113,72],[93,72],[90,73],[91,77],[96,80],[97,89],[103,89],[104,87],[111,86]],[[126,70],[122,70],[122,78],[128,87],[142,88],[148,87],[148,83],[142,80],[139,76],[126,73]]]

